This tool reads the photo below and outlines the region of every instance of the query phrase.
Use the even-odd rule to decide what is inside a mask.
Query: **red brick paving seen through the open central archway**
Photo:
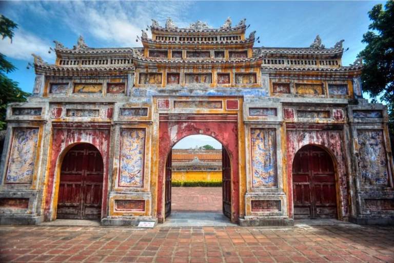
[[[222,213],[222,187],[172,187],[172,212]]]

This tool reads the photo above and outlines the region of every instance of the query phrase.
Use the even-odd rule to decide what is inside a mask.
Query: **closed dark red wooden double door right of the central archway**
[[[293,161],[294,218],[337,218],[334,165],[324,149],[307,145]]]

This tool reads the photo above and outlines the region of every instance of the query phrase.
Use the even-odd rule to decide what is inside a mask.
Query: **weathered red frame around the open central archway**
[[[176,116],[176,115],[174,115]],[[166,116],[167,117],[167,116]],[[192,119],[171,120],[161,118],[159,124],[159,173],[157,180],[157,218],[165,220],[165,164],[172,147],[176,142],[189,135],[207,135],[218,140],[227,151],[231,163],[231,221],[239,219],[239,180],[238,167],[238,117],[225,116],[219,121],[193,121]]]

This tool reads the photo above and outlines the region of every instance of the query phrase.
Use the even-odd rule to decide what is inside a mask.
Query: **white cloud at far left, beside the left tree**
[[[18,29],[12,38],[0,40],[0,52],[9,58],[19,60],[32,60],[31,53],[40,55],[44,60],[53,58],[53,55],[48,53],[49,43],[37,37],[36,35],[26,32],[23,29]]]

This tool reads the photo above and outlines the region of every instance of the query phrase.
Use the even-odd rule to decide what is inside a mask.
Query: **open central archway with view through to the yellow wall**
[[[219,141],[206,135],[181,139],[171,147],[165,171],[166,218],[193,213],[195,219],[209,219],[196,213],[212,218],[223,213],[231,219],[231,163]]]

